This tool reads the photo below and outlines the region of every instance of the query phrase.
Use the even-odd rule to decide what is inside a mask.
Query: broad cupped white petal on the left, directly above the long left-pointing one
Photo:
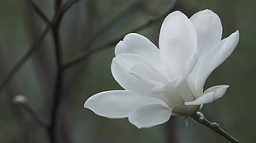
[[[141,81],[140,78],[137,78],[132,74],[131,70],[136,64],[145,65],[144,67],[140,67],[140,70],[147,74],[151,73],[149,78],[154,78],[154,75],[159,77],[158,73],[155,73],[153,70],[154,67],[149,65],[144,59],[131,53],[122,53],[113,59],[111,63],[112,75],[124,89],[144,95],[152,95],[152,85],[145,83],[145,81]]]

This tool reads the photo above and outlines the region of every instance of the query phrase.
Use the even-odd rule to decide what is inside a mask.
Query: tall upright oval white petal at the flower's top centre
[[[197,53],[195,27],[182,12],[172,12],[165,18],[160,30],[159,48],[171,79],[182,73],[188,58]]]

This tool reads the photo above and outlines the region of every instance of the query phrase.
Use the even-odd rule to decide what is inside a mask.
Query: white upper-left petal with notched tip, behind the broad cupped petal
[[[133,53],[145,59],[155,69],[163,72],[165,75],[163,62],[160,58],[159,48],[157,48],[149,39],[143,35],[136,33],[130,33],[125,38],[116,44],[115,54],[116,56],[121,53]]]

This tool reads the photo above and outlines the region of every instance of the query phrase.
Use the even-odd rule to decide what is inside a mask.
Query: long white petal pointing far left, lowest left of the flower
[[[164,104],[164,101],[134,95],[126,90],[111,90],[92,95],[85,102],[84,108],[106,118],[127,118],[133,110],[148,104]]]

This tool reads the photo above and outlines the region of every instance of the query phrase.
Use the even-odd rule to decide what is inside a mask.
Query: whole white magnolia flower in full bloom
[[[93,95],[84,107],[106,118],[128,118],[139,128],[167,122],[171,115],[191,116],[229,87],[203,90],[239,41],[238,31],[221,36],[220,18],[210,10],[189,19],[182,12],[170,13],[161,26],[159,48],[142,35],[126,35],[111,63],[112,75],[125,90]]]

